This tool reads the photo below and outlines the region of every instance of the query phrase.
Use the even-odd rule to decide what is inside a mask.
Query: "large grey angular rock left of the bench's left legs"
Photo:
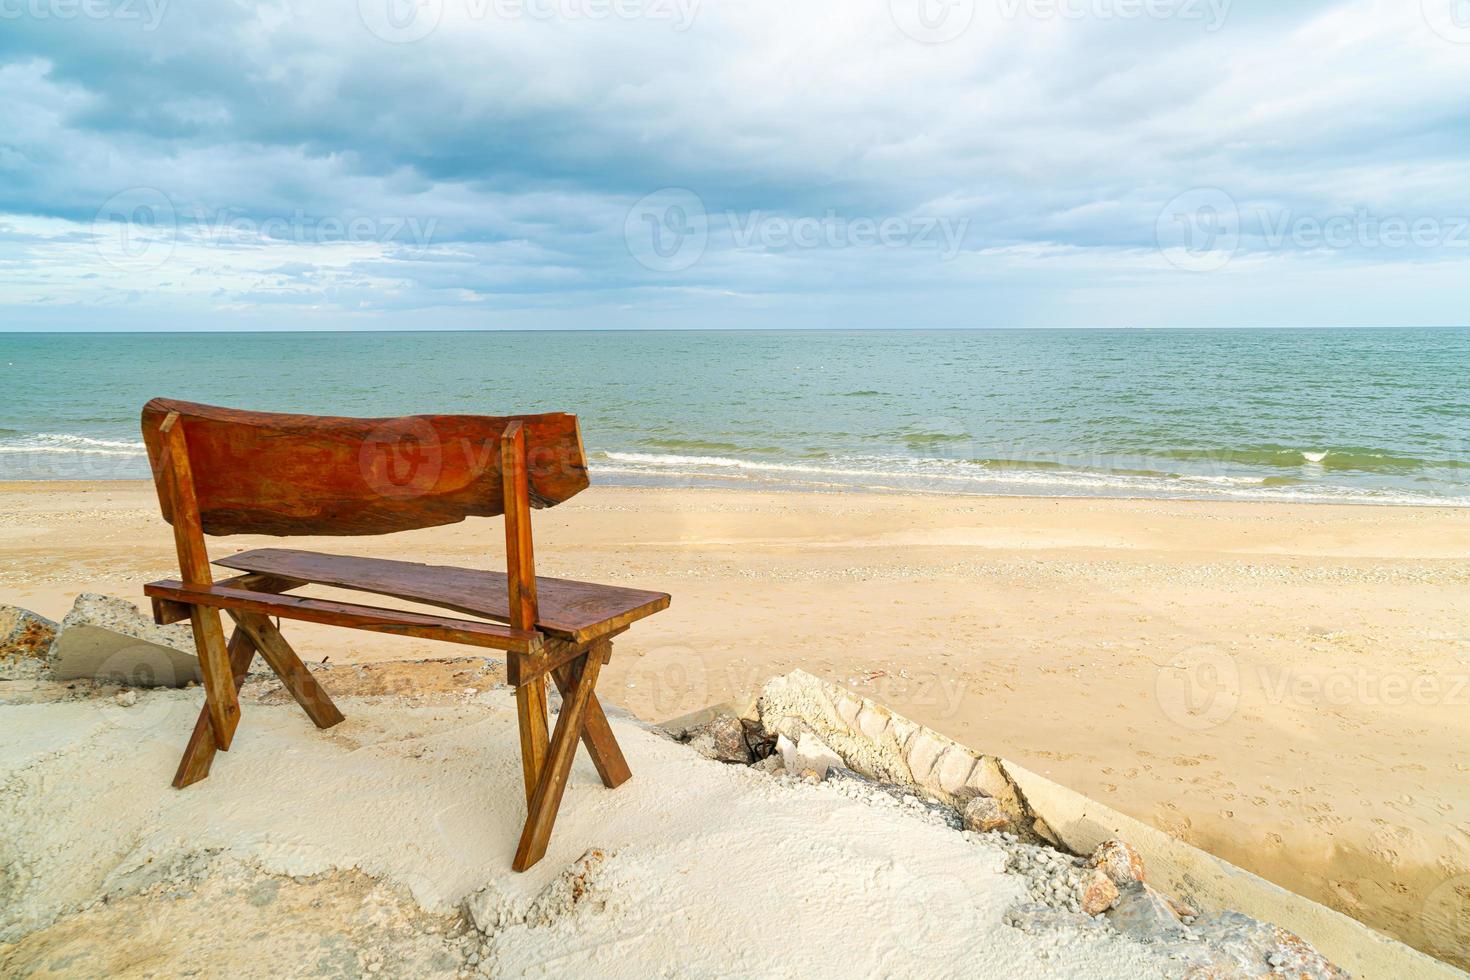
[[[98,680],[132,688],[182,688],[200,680],[188,626],[157,626],[138,607],[84,592],[51,645],[56,680]]]

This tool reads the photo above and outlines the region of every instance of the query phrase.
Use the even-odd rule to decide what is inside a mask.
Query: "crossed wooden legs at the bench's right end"
[[[604,786],[613,789],[632,776],[594,692],[603,663],[610,657],[612,642],[600,639],[576,658],[551,670],[551,679],[562,692],[562,713],[557,714],[550,745],[545,743],[545,679],[537,676],[516,688],[522,768],[528,793],[526,826],[520,832],[520,845],[512,864],[516,871],[525,871],[545,857],[579,741],[592,757]],[[538,752],[539,746],[545,746],[544,752]],[[537,758],[538,754],[542,758]]]

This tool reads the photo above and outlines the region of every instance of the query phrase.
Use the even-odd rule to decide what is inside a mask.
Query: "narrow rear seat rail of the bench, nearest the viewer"
[[[143,592],[156,599],[172,599],[190,605],[241,610],[306,623],[350,626],[375,633],[442,639],[451,644],[490,646],[492,649],[520,654],[534,652],[541,646],[539,633],[528,633],[498,623],[478,623],[475,620],[385,610],[373,605],[357,605],[354,602],[312,599],[303,595],[272,595],[269,592],[251,592],[228,585],[190,586],[182,582],[163,580],[150,582],[143,586]]]

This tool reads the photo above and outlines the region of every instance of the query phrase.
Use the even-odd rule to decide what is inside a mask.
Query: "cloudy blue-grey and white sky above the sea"
[[[1470,322],[1470,0],[0,0],[0,329]]]

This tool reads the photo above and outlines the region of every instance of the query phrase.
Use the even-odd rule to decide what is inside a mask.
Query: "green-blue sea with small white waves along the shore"
[[[0,479],[154,395],[581,416],[598,483],[1470,505],[1470,331],[0,334]]]

